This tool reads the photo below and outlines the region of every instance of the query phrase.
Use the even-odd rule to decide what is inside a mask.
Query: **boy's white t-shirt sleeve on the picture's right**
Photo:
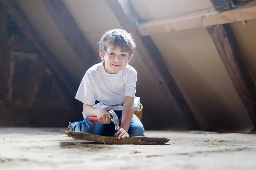
[[[125,96],[135,97],[137,73],[130,72],[125,84]]]

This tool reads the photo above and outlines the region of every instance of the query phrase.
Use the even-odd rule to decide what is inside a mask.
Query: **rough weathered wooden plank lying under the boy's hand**
[[[128,137],[125,139],[117,139],[116,137],[110,136],[99,136],[92,135],[89,133],[73,132],[73,131],[64,131],[64,134],[70,136],[74,139],[97,142],[102,144],[166,144],[170,141],[168,138],[154,138],[146,136],[137,136],[137,137]]]

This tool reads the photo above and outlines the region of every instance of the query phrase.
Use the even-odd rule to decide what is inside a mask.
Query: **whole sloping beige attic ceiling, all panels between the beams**
[[[41,0],[16,0],[16,2],[60,64],[79,85],[88,68],[73,51]],[[98,53],[99,39],[105,31],[122,28],[105,0],[63,0],[63,2],[96,53]],[[192,0],[131,0],[131,4],[143,20],[213,8],[210,0],[193,0],[193,2]],[[241,22],[231,24],[254,80],[256,72],[253,64],[253,44],[256,44],[256,40],[253,39],[254,34],[250,36],[246,30],[252,32],[255,23],[256,20],[250,20],[246,25],[242,25]],[[155,34],[150,37],[163,55],[170,73],[202,129],[230,127],[247,130],[253,127],[205,28]],[[177,114],[167,102],[165,94],[157,86],[137,51],[134,52],[130,64],[138,72],[136,95],[141,97],[145,114],[148,113],[143,115],[146,126],[157,128],[157,125],[153,125],[155,121],[168,119],[169,124],[172,125],[163,125],[166,128],[186,127],[185,118]]]

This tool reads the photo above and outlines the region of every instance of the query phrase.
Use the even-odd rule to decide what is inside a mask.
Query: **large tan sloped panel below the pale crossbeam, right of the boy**
[[[212,129],[250,129],[247,111],[205,28],[151,36]],[[202,122],[201,119],[198,119]]]

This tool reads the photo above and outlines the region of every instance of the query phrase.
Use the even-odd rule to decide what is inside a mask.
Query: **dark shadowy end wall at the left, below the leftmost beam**
[[[67,127],[77,114],[35,46],[0,9],[0,126]]]

